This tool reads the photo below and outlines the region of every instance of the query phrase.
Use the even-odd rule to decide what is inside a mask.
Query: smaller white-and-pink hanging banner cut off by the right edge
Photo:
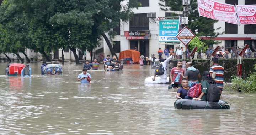
[[[256,24],[256,5],[236,5],[240,24]]]

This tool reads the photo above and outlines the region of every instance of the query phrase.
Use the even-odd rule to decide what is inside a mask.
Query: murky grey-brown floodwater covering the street
[[[230,110],[177,110],[177,89],[144,83],[154,75],[150,66],[88,71],[88,84],[77,81],[82,64],[65,63],[62,76],[41,75],[41,63],[30,66],[31,77],[9,77],[0,63],[0,134],[256,134],[256,94],[223,91]]]

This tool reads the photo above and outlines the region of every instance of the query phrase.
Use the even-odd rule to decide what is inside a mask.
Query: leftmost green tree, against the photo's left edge
[[[2,32],[5,34],[5,39],[1,40],[2,46],[5,46],[4,52],[11,52],[17,55],[18,59],[24,62],[24,60],[20,57],[19,51],[22,52],[27,61],[30,62],[29,58],[25,53],[25,46],[22,44],[26,43],[28,39],[26,38],[27,34],[24,22],[23,22],[23,14],[16,14],[14,10],[12,10],[15,6],[11,4],[9,1],[5,0],[0,7],[0,21],[2,23]],[[8,57],[7,57],[8,58]],[[10,58],[8,58],[10,60]]]

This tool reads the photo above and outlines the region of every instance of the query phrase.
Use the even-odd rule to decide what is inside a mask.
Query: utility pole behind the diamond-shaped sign
[[[181,24],[183,27],[185,27],[188,24],[188,6],[190,5],[190,0],[182,0],[182,5],[183,5],[183,17],[181,17]],[[183,45],[181,42],[180,47],[182,47],[182,52],[183,52],[183,58],[182,58],[182,69],[186,71],[186,63],[187,63],[187,46]]]

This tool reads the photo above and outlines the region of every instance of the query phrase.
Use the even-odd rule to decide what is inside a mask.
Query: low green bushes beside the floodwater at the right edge
[[[254,64],[254,70],[256,70],[256,64]],[[240,79],[236,76],[232,76],[232,88],[239,89],[246,93],[256,93],[256,72],[254,71],[245,79]]]

